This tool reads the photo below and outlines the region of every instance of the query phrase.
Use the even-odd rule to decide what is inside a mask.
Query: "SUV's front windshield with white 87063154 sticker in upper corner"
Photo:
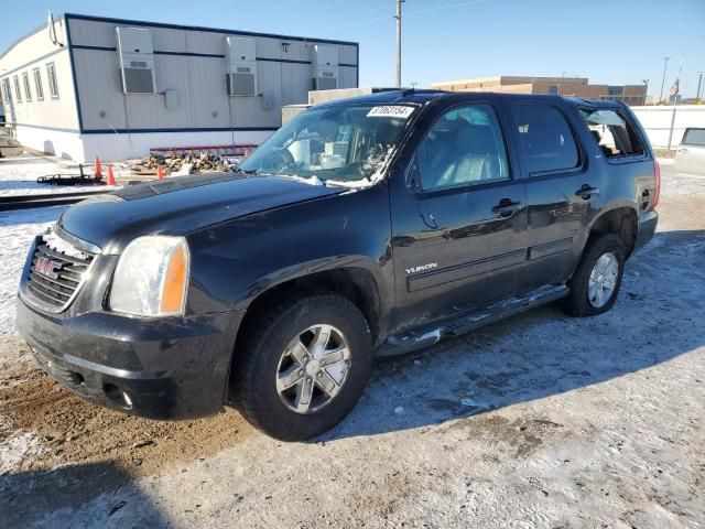
[[[402,105],[313,107],[274,132],[239,170],[344,184],[372,181],[413,111]]]

